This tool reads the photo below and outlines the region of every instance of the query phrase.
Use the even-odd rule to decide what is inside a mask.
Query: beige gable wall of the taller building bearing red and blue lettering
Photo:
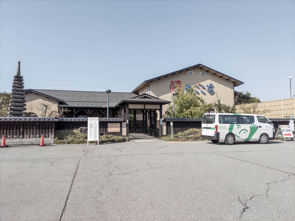
[[[193,71],[193,75],[188,75],[188,71]],[[234,86],[231,81],[227,81],[224,78],[219,78],[216,75],[213,75],[212,73],[206,72],[206,76],[201,76],[201,72],[204,72],[200,70],[199,68],[189,69],[188,71],[183,71],[181,73],[176,73],[175,75],[170,75],[168,77],[160,78],[159,80],[154,80],[150,83],[146,83],[146,85],[150,85],[150,95],[158,97],[160,99],[173,101],[170,85],[171,81],[181,81],[182,85],[189,84],[191,86],[194,86],[198,83],[201,83],[205,86],[203,91],[205,91],[205,94],[201,93],[201,89],[197,89],[199,91],[199,96],[201,96],[207,103],[214,103],[214,101],[217,101],[217,95],[218,98],[222,101],[222,103],[227,105],[233,105],[234,104]],[[214,90],[213,94],[209,94],[207,92],[207,86],[210,83],[213,84],[213,87],[210,89]],[[147,86],[142,86],[138,90],[138,94],[146,93]],[[168,104],[163,105],[163,114],[165,114],[166,109],[168,108]],[[158,114],[159,116],[159,114]],[[159,117],[158,117],[159,119]]]

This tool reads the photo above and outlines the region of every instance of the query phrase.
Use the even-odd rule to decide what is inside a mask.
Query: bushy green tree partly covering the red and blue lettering
[[[175,89],[178,92],[178,95],[175,96],[175,118],[202,118],[204,113],[213,108],[212,103],[207,104],[193,88],[189,88],[187,93],[184,88],[185,85],[182,85]],[[164,117],[173,117],[173,104],[167,108]]]

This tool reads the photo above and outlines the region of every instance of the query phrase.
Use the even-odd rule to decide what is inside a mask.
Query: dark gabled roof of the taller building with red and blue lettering
[[[208,73],[212,73],[213,75],[219,76],[220,78],[223,78],[223,79],[225,79],[225,80],[227,80],[227,81],[231,81],[231,82],[234,84],[234,87],[235,87],[235,86],[239,86],[240,84],[244,84],[244,82],[242,82],[242,81],[240,81],[240,80],[237,80],[237,79],[235,79],[235,78],[232,78],[232,77],[230,77],[230,76],[228,76],[228,75],[226,75],[226,74],[224,74],[224,73],[221,73],[221,72],[219,72],[219,71],[216,71],[216,70],[214,70],[214,69],[212,69],[212,68],[209,68],[209,67],[207,67],[207,66],[205,66],[205,65],[202,65],[202,64],[196,64],[196,65],[193,65],[193,66],[190,66],[190,67],[187,67],[187,68],[183,68],[183,69],[178,70],[178,71],[173,71],[173,72],[171,72],[171,73],[164,74],[164,75],[161,75],[161,76],[158,76],[158,77],[151,78],[151,79],[148,79],[148,80],[146,80],[146,81],[143,81],[140,85],[138,85],[138,86],[137,86],[133,91],[131,91],[131,92],[132,92],[132,93],[136,92],[137,89],[139,89],[143,84],[145,84],[145,83],[147,83],[147,82],[152,82],[152,81],[154,81],[154,80],[160,80],[161,78],[167,77],[167,76],[169,76],[169,75],[174,75],[174,74],[176,74],[176,73],[181,73],[181,72],[183,72],[183,71],[187,71],[187,70],[189,70],[189,69],[191,69],[191,68],[193,68],[193,69],[194,69],[194,68],[199,68],[199,69],[204,70],[204,71],[206,71],[206,72],[208,72]]]

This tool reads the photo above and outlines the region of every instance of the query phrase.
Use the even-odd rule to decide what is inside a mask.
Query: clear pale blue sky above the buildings
[[[5,1],[0,91],[130,92],[202,63],[261,101],[295,94],[295,1]]]

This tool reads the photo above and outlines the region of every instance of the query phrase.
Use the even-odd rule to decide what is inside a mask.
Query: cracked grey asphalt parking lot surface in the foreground
[[[295,220],[295,142],[0,149],[0,220]]]

